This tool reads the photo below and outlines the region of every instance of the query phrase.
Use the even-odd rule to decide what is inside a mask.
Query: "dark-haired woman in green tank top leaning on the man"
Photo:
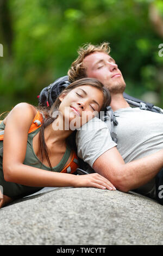
[[[83,120],[86,123],[109,103],[109,92],[101,82],[83,78],[60,94],[50,113],[44,113],[46,118],[28,103],[16,105],[0,124],[1,133],[4,130],[0,142],[0,207],[42,187],[114,189],[97,173],[73,175],[77,156],[67,144],[74,127],[83,125]]]

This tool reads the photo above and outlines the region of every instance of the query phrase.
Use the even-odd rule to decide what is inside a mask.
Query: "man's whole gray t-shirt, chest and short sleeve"
[[[131,107],[118,109],[114,115],[118,121],[118,125],[115,126],[117,149],[126,163],[163,148],[163,115]],[[110,120],[104,123],[104,127],[106,125],[109,135]],[[105,135],[103,130],[105,129],[77,132],[78,155],[91,167],[96,159],[106,151],[107,145],[108,150],[116,146],[111,136]],[[136,192],[155,198],[155,179],[137,189]]]

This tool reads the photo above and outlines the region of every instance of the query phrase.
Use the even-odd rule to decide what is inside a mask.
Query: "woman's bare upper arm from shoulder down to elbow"
[[[4,178],[12,175],[15,164],[23,163],[26,156],[28,131],[36,109],[28,103],[16,105],[4,120],[3,172]]]

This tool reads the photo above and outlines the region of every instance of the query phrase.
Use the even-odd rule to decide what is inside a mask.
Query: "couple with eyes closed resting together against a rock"
[[[1,122],[0,207],[42,187],[66,186],[134,190],[161,203],[163,115],[129,106],[126,83],[109,52],[106,42],[80,48],[68,70],[71,84],[50,110],[20,103]],[[109,105],[117,143],[110,118],[97,117]],[[74,175],[77,155],[95,173]]]

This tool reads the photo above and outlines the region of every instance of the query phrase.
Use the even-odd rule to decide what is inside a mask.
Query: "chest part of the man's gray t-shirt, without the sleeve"
[[[163,148],[163,115],[137,107],[118,109],[114,115],[117,149],[126,163]]]

